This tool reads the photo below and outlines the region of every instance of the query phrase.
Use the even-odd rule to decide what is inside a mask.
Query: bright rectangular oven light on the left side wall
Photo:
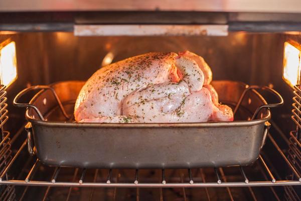
[[[6,41],[4,42],[6,43]],[[3,44],[4,44],[3,43]],[[17,79],[16,43],[0,44],[0,82],[7,87]]]

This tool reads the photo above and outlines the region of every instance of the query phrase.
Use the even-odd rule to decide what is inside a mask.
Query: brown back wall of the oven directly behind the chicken
[[[230,34],[228,37],[75,37],[72,33],[46,33],[49,79],[86,80],[98,68],[103,57],[112,52],[113,62],[147,52],[190,50],[202,55],[213,70],[214,79],[250,82],[253,35]],[[235,73],[233,73],[235,72]]]

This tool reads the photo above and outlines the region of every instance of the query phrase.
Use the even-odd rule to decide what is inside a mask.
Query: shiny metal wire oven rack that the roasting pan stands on
[[[21,145],[20,149],[17,151],[15,156],[10,160],[7,165],[7,168],[0,175],[0,184],[11,184],[11,185],[29,185],[29,186],[70,186],[70,187],[150,187],[150,188],[166,188],[166,187],[247,187],[247,186],[283,186],[283,185],[301,185],[301,177],[299,173],[295,170],[293,165],[286,158],[285,154],[281,151],[281,149],[276,144],[275,140],[272,138],[270,134],[268,134],[268,139],[274,145],[278,153],[281,155],[282,159],[285,161],[287,166],[294,174],[294,179],[291,180],[278,180],[272,173],[271,169],[268,167],[267,162],[264,160],[264,155],[261,154],[259,156],[259,161],[263,167],[263,171],[267,173],[268,178],[264,181],[252,181],[248,179],[248,175],[244,171],[244,167],[237,167],[240,172],[242,179],[239,181],[231,181],[228,182],[225,178],[227,175],[223,173],[223,168],[214,168],[216,181],[215,182],[195,182],[192,170],[187,169],[188,172],[188,181],[187,182],[168,182],[165,176],[165,169],[162,169],[161,173],[161,181],[160,182],[139,182],[139,170],[135,170],[135,174],[132,177],[132,182],[113,182],[116,181],[116,178],[112,178],[112,169],[108,170],[107,179],[104,182],[86,182],[85,174],[87,169],[78,169],[75,171],[81,172],[80,178],[74,181],[58,181],[58,176],[61,169],[65,167],[56,167],[53,171],[53,176],[50,180],[32,180],[33,175],[39,170],[42,164],[37,159],[35,163],[30,168],[25,179],[14,180],[14,179],[6,179],[5,175],[9,172],[10,168],[13,166],[15,160],[19,157],[20,153],[25,149],[27,140]],[[202,169],[200,169],[202,170]],[[98,169],[95,172],[99,171]],[[96,173],[97,175],[97,173]]]

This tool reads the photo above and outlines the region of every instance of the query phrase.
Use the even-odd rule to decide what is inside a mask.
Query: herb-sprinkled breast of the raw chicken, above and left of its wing
[[[167,81],[180,80],[176,53],[148,53],[97,70],[81,89],[75,103],[76,121],[122,115],[122,100],[130,92]]]

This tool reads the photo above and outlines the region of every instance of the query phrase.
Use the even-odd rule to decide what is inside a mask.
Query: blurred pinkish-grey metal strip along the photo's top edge
[[[4,0],[0,11],[205,11],[301,13],[299,0]]]

